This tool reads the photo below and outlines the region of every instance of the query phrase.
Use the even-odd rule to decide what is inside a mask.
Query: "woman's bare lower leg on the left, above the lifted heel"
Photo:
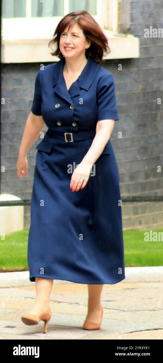
[[[35,277],[36,282],[36,298],[29,314],[40,315],[49,307],[50,294],[53,285],[53,279]]]

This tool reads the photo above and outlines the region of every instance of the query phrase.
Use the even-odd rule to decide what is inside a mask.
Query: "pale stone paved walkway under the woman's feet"
[[[47,334],[41,321],[27,326],[21,315],[34,304],[35,283],[1,287],[0,339],[163,339],[163,283],[104,285],[100,330],[82,329],[87,314],[87,285],[58,281],[52,287],[52,317]]]

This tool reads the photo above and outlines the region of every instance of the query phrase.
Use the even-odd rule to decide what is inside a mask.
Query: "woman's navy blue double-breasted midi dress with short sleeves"
[[[96,123],[119,120],[114,78],[88,56],[82,73],[67,90],[64,63],[62,58],[44,66],[35,79],[31,111],[42,115],[48,131],[36,147],[29,279],[116,284],[125,279],[125,269],[119,170],[111,140],[92,167],[85,188],[72,192],[69,187],[74,168],[94,139]],[[83,140],[69,142],[70,134],[68,142],[56,137],[86,131],[91,136]]]

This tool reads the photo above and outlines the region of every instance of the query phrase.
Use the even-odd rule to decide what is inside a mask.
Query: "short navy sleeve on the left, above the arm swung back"
[[[31,111],[36,116],[41,116],[41,105],[42,105],[42,96],[41,96],[41,70],[38,71],[36,79],[35,79],[35,89],[34,89],[34,97]]]

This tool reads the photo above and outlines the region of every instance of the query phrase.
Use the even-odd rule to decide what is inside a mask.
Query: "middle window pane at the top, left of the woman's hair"
[[[64,0],[31,0],[31,16],[63,16]]]

